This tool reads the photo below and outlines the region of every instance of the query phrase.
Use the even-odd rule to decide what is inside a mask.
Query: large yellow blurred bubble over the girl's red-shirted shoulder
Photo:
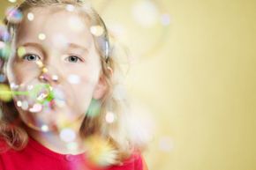
[[[87,137],[85,142],[88,159],[97,166],[109,166],[116,163],[117,151],[112,144],[98,136]]]

